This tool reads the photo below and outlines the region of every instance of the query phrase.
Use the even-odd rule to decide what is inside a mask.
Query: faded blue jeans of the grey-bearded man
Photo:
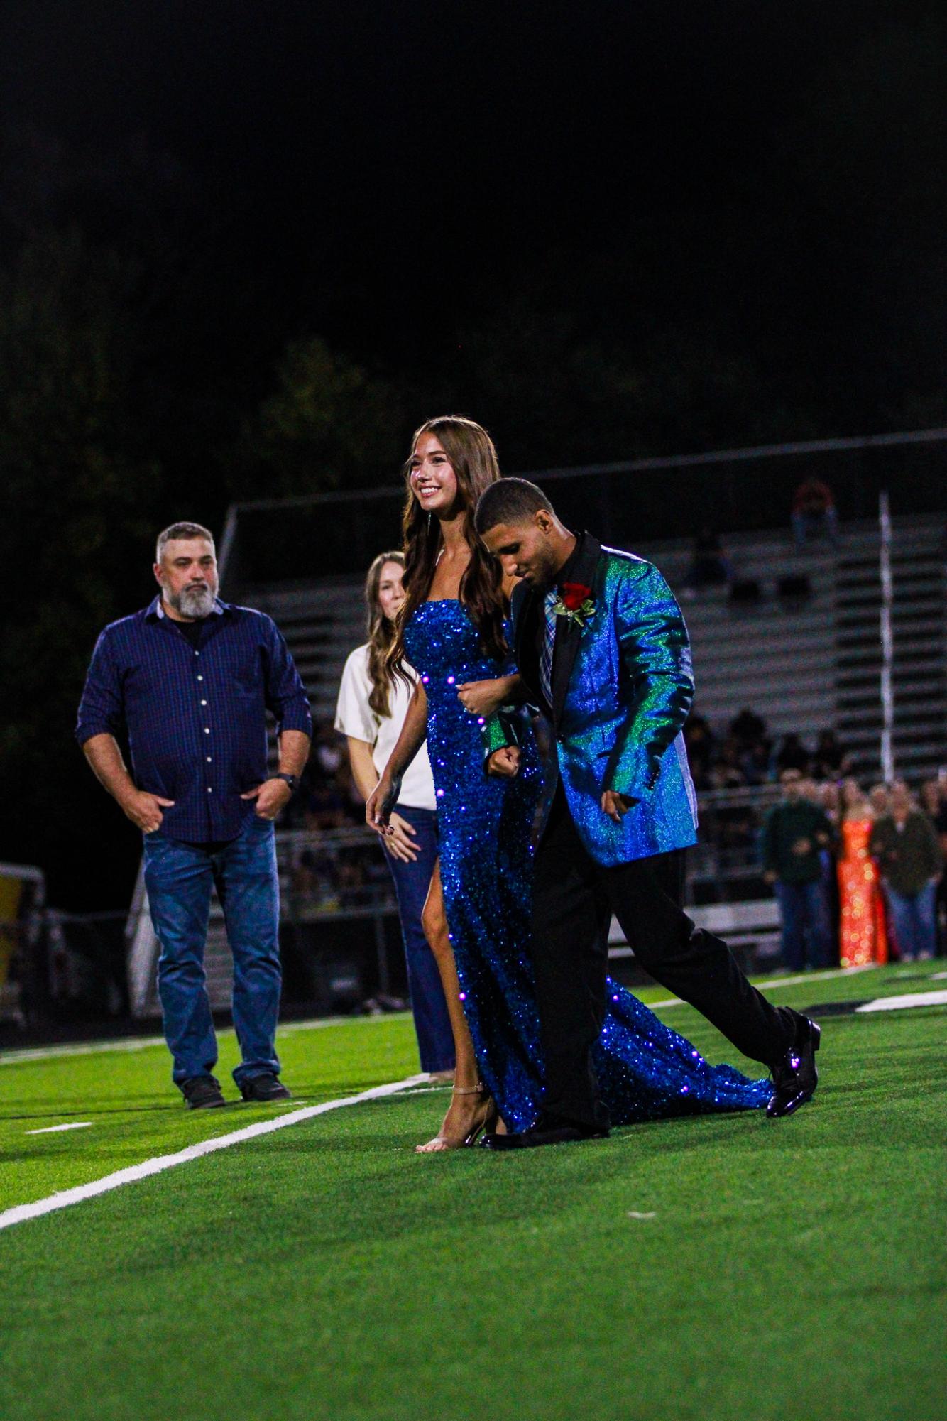
[[[233,952],[233,1025],[241,1061],[237,1086],[273,1071],[280,1013],[280,887],[273,824],[251,814],[217,853],[145,834],[145,887],[160,942],[158,995],[177,1086],[209,1076],[217,1039],[204,978],[210,894],[216,885]]]

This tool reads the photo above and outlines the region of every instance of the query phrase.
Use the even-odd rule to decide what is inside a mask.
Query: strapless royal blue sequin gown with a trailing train
[[[508,674],[484,657],[459,601],[422,603],[405,631],[427,693],[427,752],[437,791],[440,875],[464,1012],[484,1083],[510,1130],[537,1118],[542,1050],[530,963],[532,850],[541,791],[531,737],[515,779],[484,774],[480,722],[457,686]],[[755,1110],[772,1093],[731,1066],[710,1066],[683,1036],[611,978],[596,1071],[612,1123]]]

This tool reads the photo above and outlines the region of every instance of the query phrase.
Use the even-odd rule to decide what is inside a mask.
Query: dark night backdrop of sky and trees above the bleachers
[[[7,6],[0,855],[126,901],[71,716],[173,516],[446,408],[520,470],[947,423],[946,61],[933,0]]]

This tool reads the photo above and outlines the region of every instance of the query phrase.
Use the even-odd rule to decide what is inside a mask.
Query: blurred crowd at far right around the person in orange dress
[[[947,942],[947,779],[913,794],[866,787],[835,730],[808,746],[774,737],[744,708],[723,735],[699,713],[684,729],[703,794],[701,840],[772,884],[789,969],[929,958]],[[781,787],[761,818],[752,790]]]

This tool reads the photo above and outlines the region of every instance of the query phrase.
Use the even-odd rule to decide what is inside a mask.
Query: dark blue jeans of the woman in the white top
[[[388,850],[385,855],[395,880],[420,1069],[426,1071],[453,1070],[454,1036],[450,1029],[444,989],[434,953],[430,951],[420,925],[422,909],[437,863],[437,811],[415,809],[413,804],[398,804],[396,810],[417,834],[415,840],[417,858],[412,864],[393,858]]]

